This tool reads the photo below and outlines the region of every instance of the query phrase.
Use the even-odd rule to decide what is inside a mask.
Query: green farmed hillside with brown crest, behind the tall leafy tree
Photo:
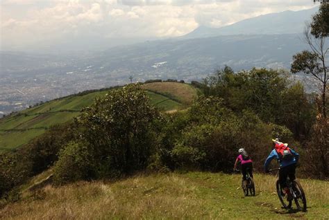
[[[161,86],[162,84],[165,86]],[[151,89],[148,89],[146,93],[151,98],[151,104],[163,111],[180,109],[193,94],[196,95],[196,90],[189,84],[163,82],[157,83],[155,87],[157,86],[162,88],[161,92],[164,95],[154,93]],[[153,88],[153,85],[151,83],[146,87]],[[51,125],[72,120],[80,114],[83,107],[89,106],[96,97],[101,97],[106,93],[107,91],[96,91],[85,95],[71,95],[0,119],[0,152],[28,143],[29,140],[43,134]],[[189,95],[186,95],[187,93]]]

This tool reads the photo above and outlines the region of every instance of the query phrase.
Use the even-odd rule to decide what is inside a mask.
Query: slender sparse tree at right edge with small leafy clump
[[[318,82],[321,91],[321,114],[326,118],[326,89],[328,83],[328,66],[326,66],[326,56],[329,48],[326,48],[326,39],[322,35],[319,37],[312,34],[311,25],[305,28],[305,41],[310,46],[311,51],[302,51],[293,56],[292,73],[304,72],[312,75]]]

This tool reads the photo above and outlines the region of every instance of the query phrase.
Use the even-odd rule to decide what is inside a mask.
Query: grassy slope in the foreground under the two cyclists
[[[326,219],[329,183],[301,179],[308,212],[283,210],[275,176],[255,174],[244,197],[238,174],[140,175],[115,183],[50,185],[0,210],[0,219]],[[295,206],[294,206],[295,208]]]

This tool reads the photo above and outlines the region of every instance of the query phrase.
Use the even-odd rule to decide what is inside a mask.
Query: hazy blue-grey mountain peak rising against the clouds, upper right
[[[191,33],[183,36],[188,38],[214,37],[218,35],[273,35],[303,33],[305,21],[309,21],[319,8],[260,15],[245,19],[222,28],[200,26]]]

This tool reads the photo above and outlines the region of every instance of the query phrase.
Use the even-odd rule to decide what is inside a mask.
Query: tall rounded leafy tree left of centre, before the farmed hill
[[[58,176],[64,183],[67,179],[102,178],[113,174],[126,174],[145,168],[156,147],[152,122],[158,112],[149,104],[149,98],[139,86],[130,84],[123,89],[110,91],[96,99],[76,119],[79,142],[87,143],[87,152],[92,152],[91,162],[79,164],[77,176],[65,176],[61,167],[74,166],[71,154],[90,155],[81,151],[81,145],[68,145],[60,154]],[[74,149],[69,149],[73,147]],[[81,162],[83,163],[83,161]],[[90,166],[92,165],[92,166]],[[88,174],[85,167],[92,170]],[[60,178],[58,178],[60,181]]]

